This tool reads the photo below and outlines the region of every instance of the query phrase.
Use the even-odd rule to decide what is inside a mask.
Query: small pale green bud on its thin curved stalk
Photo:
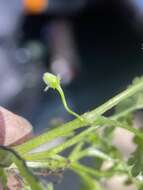
[[[65,109],[67,110],[67,112],[70,113],[71,115],[74,115],[75,117],[79,118],[81,121],[83,121],[84,119],[80,115],[73,112],[68,107],[67,102],[66,102],[66,98],[65,98],[65,95],[64,95],[64,92],[63,92],[63,89],[61,87],[61,79],[60,79],[60,77],[47,72],[47,73],[44,74],[43,80],[44,80],[45,84],[47,85],[46,88],[45,88],[45,91],[47,91],[49,88],[57,90],[57,92],[61,96],[63,105],[64,105]]]

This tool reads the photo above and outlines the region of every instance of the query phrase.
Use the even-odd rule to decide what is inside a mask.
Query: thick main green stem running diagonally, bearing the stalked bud
[[[84,117],[86,119],[86,121],[89,121],[89,123],[91,123],[91,122],[94,123],[98,119],[98,116],[104,114],[106,111],[113,108],[119,102],[125,100],[126,98],[131,97],[132,95],[134,95],[135,93],[139,92],[142,89],[143,89],[143,82],[141,81],[140,83],[129,87],[124,92],[118,94],[117,96],[115,96],[111,100],[107,101],[103,105],[99,106],[95,110],[88,112],[88,113],[82,115],[81,117]],[[25,154],[25,153],[28,153],[29,151],[31,151],[32,149],[34,149],[48,141],[53,140],[54,138],[56,138],[58,136],[66,136],[66,135],[70,134],[73,130],[84,127],[86,125],[87,125],[87,123],[85,123],[79,119],[75,119],[75,120],[68,122],[60,127],[57,127],[56,129],[53,129],[47,133],[39,135],[38,137],[35,137],[34,139],[31,139],[31,140],[27,141],[26,143],[23,143],[22,145],[16,146],[16,147],[14,147],[14,149],[16,151],[18,151],[19,154]]]

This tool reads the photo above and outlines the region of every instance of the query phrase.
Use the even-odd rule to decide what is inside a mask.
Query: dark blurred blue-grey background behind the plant
[[[35,133],[71,119],[43,92],[46,71],[61,76],[78,113],[122,91],[143,74],[143,0],[0,0],[0,105]]]

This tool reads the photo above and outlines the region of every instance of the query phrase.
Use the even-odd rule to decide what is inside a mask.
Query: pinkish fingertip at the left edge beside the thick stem
[[[32,137],[32,125],[23,117],[0,106],[0,145],[23,143]]]

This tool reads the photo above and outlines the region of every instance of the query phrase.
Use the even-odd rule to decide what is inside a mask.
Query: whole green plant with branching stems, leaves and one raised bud
[[[125,91],[116,95],[93,111],[79,116],[66,103],[60,79],[50,73],[43,77],[49,87],[58,91],[66,110],[76,116],[73,121],[44,132],[43,134],[15,147],[0,147],[0,180],[4,187],[7,171],[13,167],[23,177],[23,189],[53,189],[53,184],[44,186],[34,176],[35,169],[56,172],[71,170],[82,181],[82,189],[101,190],[103,182],[112,176],[126,175],[128,183],[138,190],[143,189],[143,133],[133,126],[133,113],[143,108],[143,78],[137,78]],[[47,87],[46,87],[47,90]],[[105,117],[103,114],[115,107],[115,112]],[[136,150],[128,160],[112,144],[115,128],[123,128],[134,134]],[[77,129],[81,129],[77,132]],[[99,133],[99,130],[102,129]],[[65,141],[50,150],[32,153],[40,145],[65,137]],[[67,157],[62,156],[70,148]],[[83,164],[85,157],[92,159],[92,165]],[[110,161],[111,166],[103,170],[102,164]]]

